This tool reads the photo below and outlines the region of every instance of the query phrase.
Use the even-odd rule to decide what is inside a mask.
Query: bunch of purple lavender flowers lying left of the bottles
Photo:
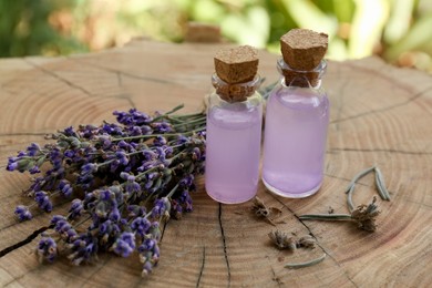
[[[128,257],[136,251],[147,275],[160,259],[161,227],[169,216],[192,212],[189,192],[204,173],[204,113],[153,116],[135,109],[115,111],[116,123],[68,127],[53,143],[32,143],[10,157],[8,171],[39,174],[24,193],[34,199],[19,205],[20,220],[34,209],[50,213],[69,199],[68,215],[52,217],[37,254],[53,261],[64,254],[74,265],[94,261],[99,251]]]

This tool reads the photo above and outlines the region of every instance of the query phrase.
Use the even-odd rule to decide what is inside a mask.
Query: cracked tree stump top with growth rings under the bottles
[[[21,191],[30,175],[6,171],[8,156],[69,125],[114,121],[112,111],[167,111],[179,103],[198,111],[210,91],[213,56],[224,44],[171,44],[146,40],[121,49],[68,58],[0,60],[0,250],[45,226],[51,215],[18,223],[13,209],[29,204]],[[260,52],[259,73],[276,81],[278,55]],[[137,255],[102,255],[74,267],[61,258],[40,265],[37,239],[0,258],[2,287],[430,287],[432,285],[432,78],[379,59],[328,64],[325,88],[331,101],[326,177],[304,199],[258,196],[282,210],[276,227],[257,220],[251,202],[220,205],[193,194],[194,212],[171,220],[154,272],[141,277]],[[282,132],[281,132],[282,133]],[[344,188],[354,174],[378,165],[392,200],[378,200],[376,233],[349,223],[299,220],[310,213],[347,213]],[[374,179],[360,181],[356,204],[377,195]],[[59,204],[52,215],[63,213]],[[295,253],[274,248],[267,234],[311,234],[319,246]],[[302,269],[286,263],[327,255]]]

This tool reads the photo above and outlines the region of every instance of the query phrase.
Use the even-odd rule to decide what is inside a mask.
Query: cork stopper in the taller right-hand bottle
[[[317,85],[320,63],[327,52],[328,35],[308,29],[292,29],[280,38],[287,66],[281,68],[285,83],[295,86]]]

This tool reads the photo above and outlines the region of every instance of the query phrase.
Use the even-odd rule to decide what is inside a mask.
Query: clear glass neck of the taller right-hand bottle
[[[284,76],[286,86],[313,88],[321,86],[321,78],[326,73],[327,62],[322,60],[318,66],[309,71],[301,71],[290,68],[284,59],[279,59],[278,71]]]

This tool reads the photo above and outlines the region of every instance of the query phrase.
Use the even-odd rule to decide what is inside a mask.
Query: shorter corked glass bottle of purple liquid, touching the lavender
[[[226,204],[243,203],[257,193],[263,100],[257,51],[248,45],[215,56],[215,88],[207,109],[205,186]]]

